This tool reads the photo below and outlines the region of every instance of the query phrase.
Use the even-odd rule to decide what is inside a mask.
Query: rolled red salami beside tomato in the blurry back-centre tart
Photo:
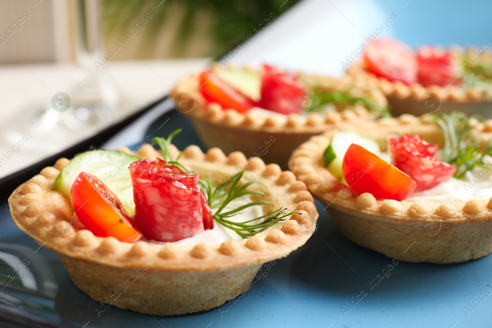
[[[261,99],[257,106],[280,114],[299,113],[299,97],[306,90],[293,73],[278,72],[269,65],[263,65],[261,77]]]

